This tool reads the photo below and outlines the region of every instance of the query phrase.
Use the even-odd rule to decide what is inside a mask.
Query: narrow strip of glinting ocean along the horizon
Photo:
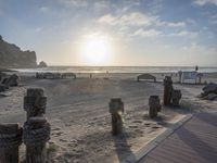
[[[72,72],[72,73],[177,73],[194,71],[194,66],[48,66],[43,68],[15,68],[18,72]],[[215,67],[199,67],[201,73],[217,73]]]

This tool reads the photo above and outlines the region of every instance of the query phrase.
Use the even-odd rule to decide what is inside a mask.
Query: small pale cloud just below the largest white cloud
[[[159,30],[149,29],[144,30],[142,28],[136,30],[132,36],[140,36],[140,37],[157,37],[162,34]]]

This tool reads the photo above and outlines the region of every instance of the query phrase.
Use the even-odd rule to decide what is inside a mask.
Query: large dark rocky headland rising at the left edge
[[[23,51],[0,36],[0,67],[36,67],[36,52]]]

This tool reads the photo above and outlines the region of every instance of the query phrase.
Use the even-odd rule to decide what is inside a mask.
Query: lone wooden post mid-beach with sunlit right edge
[[[120,98],[111,99],[110,113],[112,115],[112,134],[122,134],[124,124],[124,103]]]

